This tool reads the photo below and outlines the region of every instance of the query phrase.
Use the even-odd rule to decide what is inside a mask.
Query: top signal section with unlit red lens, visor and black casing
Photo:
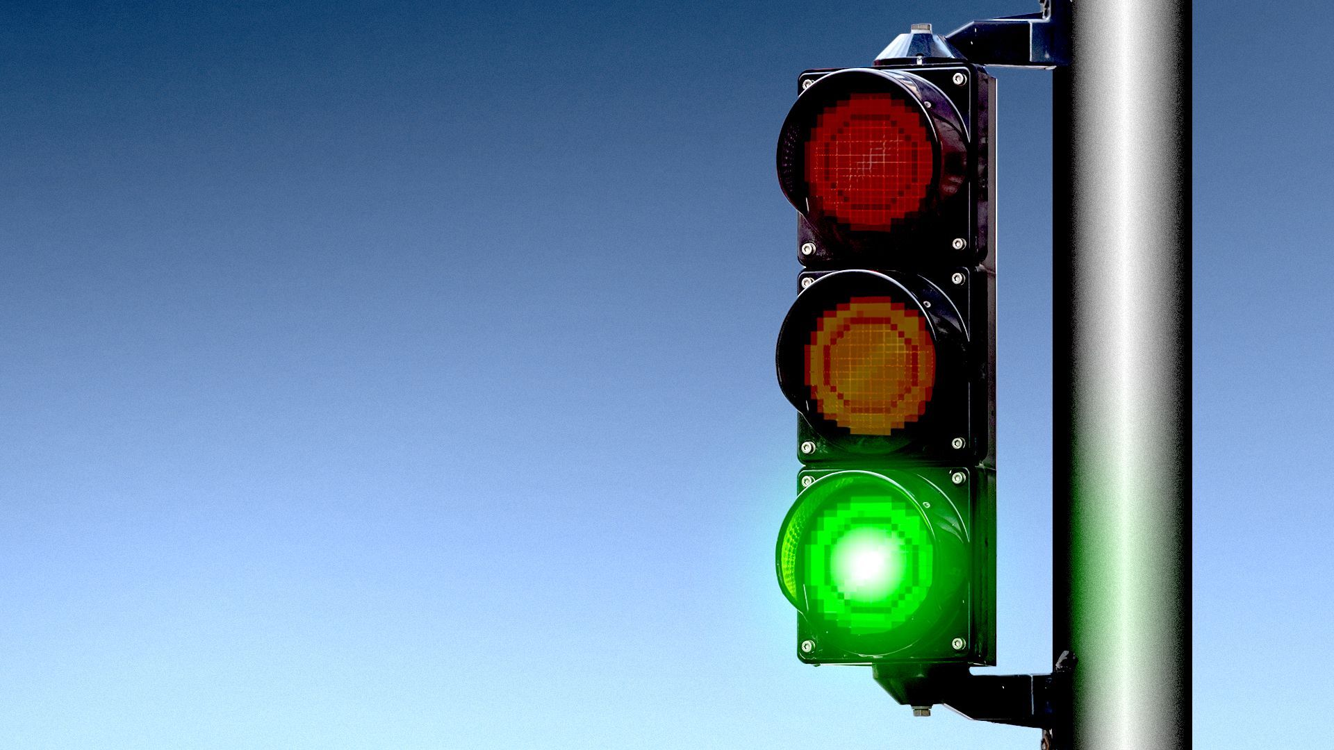
[[[862,254],[888,267],[970,259],[975,242],[952,244],[971,235],[968,169],[956,103],[906,71],[822,76],[778,136],[779,185],[819,240],[818,252],[802,256],[806,266]]]

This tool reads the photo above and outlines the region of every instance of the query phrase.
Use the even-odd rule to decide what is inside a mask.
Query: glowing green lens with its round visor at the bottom
[[[779,585],[828,631],[871,638],[871,650],[911,643],[963,586],[967,550],[956,519],[920,475],[830,474],[802,491],[783,522]]]

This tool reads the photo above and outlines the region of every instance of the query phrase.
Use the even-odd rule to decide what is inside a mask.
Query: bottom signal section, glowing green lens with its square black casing
[[[779,585],[810,663],[984,663],[994,639],[994,475],[962,467],[806,468]],[[991,558],[994,559],[994,558]]]

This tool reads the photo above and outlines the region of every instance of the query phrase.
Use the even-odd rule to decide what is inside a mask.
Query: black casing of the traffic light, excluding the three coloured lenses
[[[779,380],[799,411],[798,456],[806,464],[799,486],[848,468],[930,476],[960,510],[971,555],[967,601],[942,618],[932,635],[876,650],[798,613],[798,658],[814,665],[875,665],[878,674],[938,669],[966,674],[970,665],[995,663],[995,79],[966,60],[923,59],[810,69],[798,85],[804,93],[778,147],[779,181],[798,210],[796,256],[804,266],[788,316],[803,315],[827,291],[842,287],[838,276],[884,279],[926,312],[942,383],[928,414],[911,428],[896,436],[854,436],[808,418],[810,394],[800,391],[802,378],[791,376],[804,370],[804,362],[798,366],[795,359],[803,342],[786,342],[780,334]],[[812,112],[831,96],[863,87],[911,97],[935,137],[934,169],[944,173],[932,175],[931,206],[911,226],[854,231],[807,211],[800,160]],[[964,446],[955,448],[954,438],[964,438]],[[951,476],[959,472],[966,480],[955,484]]]

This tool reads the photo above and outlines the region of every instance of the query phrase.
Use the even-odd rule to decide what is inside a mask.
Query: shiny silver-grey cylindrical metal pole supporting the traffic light
[[[1058,749],[1190,747],[1190,4],[1074,4],[1053,79]]]

